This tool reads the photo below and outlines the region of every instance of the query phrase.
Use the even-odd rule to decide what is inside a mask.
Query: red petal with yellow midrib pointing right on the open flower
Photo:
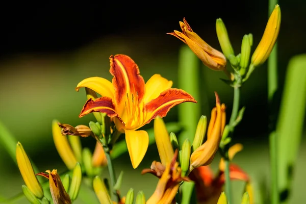
[[[166,116],[172,107],[187,101],[197,103],[189,93],[182,89],[172,88],[163,91],[157,98],[145,105],[145,110],[148,112],[146,123],[149,123],[157,116]]]

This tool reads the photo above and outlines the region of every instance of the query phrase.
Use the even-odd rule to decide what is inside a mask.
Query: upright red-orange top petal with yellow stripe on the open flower
[[[141,101],[145,91],[145,84],[137,64],[129,56],[111,56],[110,63],[110,73],[114,77],[112,82],[116,92],[114,102],[119,116],[123,116],[125,101],[129,98],[131,100],[133,97],[138,97],[139,101]],[[122,119],[124,121],[124,118]]]

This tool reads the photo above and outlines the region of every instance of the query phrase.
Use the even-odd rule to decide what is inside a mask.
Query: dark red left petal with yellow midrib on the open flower
[[[115,106],[113,104],[112,98],[107,96],[99,97],[95,100],[89,98],[86,101],[79,117],[83,117],[84,115],[92,112],[106,113],[109,117],[116,117],[118,115],[115,111]]]

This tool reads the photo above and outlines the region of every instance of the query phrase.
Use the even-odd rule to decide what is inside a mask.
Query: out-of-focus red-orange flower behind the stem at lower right
[[[234,145],[233,148],[228,150],[228,154],[231,155],[231,158],[241,150],[241,145]],[[220,167],[222,168],[222,160],[220,161]],[[224,191],[223,185],[225,182],[224,170],[219,169],[216,176],[210,166],[201,166],[193,169],[189,174],[189,178],[195,182],[196,195],[198,204],[215,204],[217,203],[221,192]],[[245,173],[238,165],[230,164],[230,178],[231,180],[240,180],[247,183],[247,191],[249,194],[252,194],[252,189],[249,187],[249,176]],[[250,197],[250,201],[252,198]],[[251,202],[250,202],[251,203]]]

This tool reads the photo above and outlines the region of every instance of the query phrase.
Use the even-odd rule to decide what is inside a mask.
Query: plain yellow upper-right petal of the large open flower
[[[145,93],[143,96],[144,104],[150,100],[157,98],[164,90],[172,87],[172,81],[168,81],[160,74],[154,74],[145,83]]]

